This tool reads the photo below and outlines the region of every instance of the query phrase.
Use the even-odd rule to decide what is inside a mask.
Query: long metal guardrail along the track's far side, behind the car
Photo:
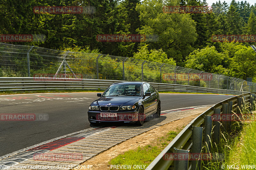
[[[0,91],[19,90],[105,90],[109,85],[122,82],[120,80],[100,80],[100,79],[79,79],[79,78],[23,78],[23,77],[0,77]],[[243,91],[212,89],[196,87],[190,85],[150,83],[158,91],[172,92],[208,92],[218,94],[243,94]]]

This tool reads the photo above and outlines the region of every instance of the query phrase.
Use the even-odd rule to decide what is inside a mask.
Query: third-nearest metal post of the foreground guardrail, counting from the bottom
[[[211,132],[212,132],[212,116],[205,116],[204,121],[204,142],[206,145],[206,152],[211,152]]]

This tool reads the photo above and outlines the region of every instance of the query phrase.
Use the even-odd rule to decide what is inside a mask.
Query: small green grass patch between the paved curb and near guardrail
[[[184,128],[184,127],[183,127]],[[157,138],[152,144],[143,147],[137,147],[135,150],[129,150],[124,154],[118,155],[109,161],[110,165],[142,165],[145,168],[160,154],[160,152],[176,137],[181,129],[169,131],[164,137]],[[133,169],[133,167],[132,167]]]

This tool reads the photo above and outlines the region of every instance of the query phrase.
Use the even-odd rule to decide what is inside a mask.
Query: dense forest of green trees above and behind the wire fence
[[[211,13],[164,13],[164,6],[212,6]],[[92,6],[82,14],[34,13],[35,6]],[[7,42],[102,54],[253,78],[255,42],[212,42],[213,34],[256,34],[256,4],[205,0],[0,0],[0,34],[44,34],[43,42]],[[98,34],[157,35],[153,42],[99,42]]]

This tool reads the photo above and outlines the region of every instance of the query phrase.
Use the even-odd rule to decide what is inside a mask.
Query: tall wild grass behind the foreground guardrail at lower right
[[[203,169],[230,169],[230,165],[234,165],[235,168],[238,165],[241,169],[241,165],[254,165],[256,162],[255,113],[251,114],[248,108],[244,106],[241,110],[244,119],[241,118],[242,122],[234,122],[228,133],[221,133],[219,144],[211,143],[211,153],[214,159],[208,162],[204,161]],[[247,118],[250,118],[251,121],[248,121]],[[214,154],[220,155],[220,157],[216,157]],[[224,168],[221,168],[221,166],[224,166]]]

